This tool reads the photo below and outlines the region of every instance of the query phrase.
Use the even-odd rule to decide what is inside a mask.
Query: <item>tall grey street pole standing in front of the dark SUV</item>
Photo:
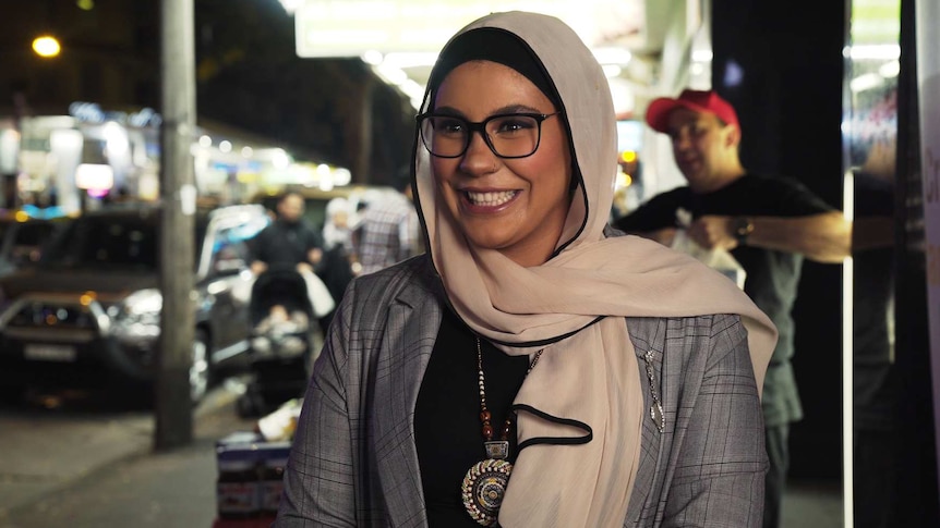
[[[155,386],[154,447],[166,451],[192,442],[193,412],[189,371],[194,315],[194,164],[190,146],[195,128],[194,0],[161,0],[160,54],[160,354]]]

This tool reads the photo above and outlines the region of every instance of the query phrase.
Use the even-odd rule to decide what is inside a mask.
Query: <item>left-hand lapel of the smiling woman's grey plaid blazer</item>
[[[441,305],[410,287],[389,309],[375,378],[374,441],[378,480],[391,526],[426,526],[414,445],[414,405],[441,327]]]

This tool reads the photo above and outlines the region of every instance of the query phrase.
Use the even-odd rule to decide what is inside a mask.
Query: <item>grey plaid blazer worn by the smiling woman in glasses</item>
[[[413,419],[443,298],[426,256],[350,285],[306,391],[276,528],[427,526]],[[665,427],[643,420],[624,526],[759,526],[763,422],[738,317],[626,324],[644,404],[655,386]]]

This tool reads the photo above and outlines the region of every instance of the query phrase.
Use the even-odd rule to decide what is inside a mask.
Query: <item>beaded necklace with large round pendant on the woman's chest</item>
[[[529,372],[535,368],[543,351],[544,348],[535,353],[526,376],[529,376]],[[479,336],[477,337],[477,384],[480,386],[481,432],[483,433],[486,459],[470,467],[463,477],[460,494],[463,498],[463,506],[473,520],[483,526],[493,526],[496,524],[496,516],[499,514],[499,506],[506,494],[506,486],[509,483],[509,474],[513,471],[513,464],[506,461],[509,457],[509,433],[513,428],[513,419],[510,412],[499,431],[499,440],[493,440],[493,426],[490,423],[492,415],[486,407],[486,380],[483,376],[483,352],[480,347]]]

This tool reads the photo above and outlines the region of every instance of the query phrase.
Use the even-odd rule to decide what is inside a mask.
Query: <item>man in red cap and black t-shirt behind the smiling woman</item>
[[[655,99],[647,124],[668,134],[688,186],[654,196],[615,225],[666,245],[684,228],[699,246],[731,251],[745,270],[745,292],[780,332],[762,395],[770,459],[763,526],[778,527],[790,423],[803,417],[791,365],[800,267],[804,257],[842,262],[852,247],[852,224],[795,180],[748,173],[738,158],[737,113],[714,91],[686,89],[678,98]],[[677,220],[680,210],[691,214],[687,226]]]

